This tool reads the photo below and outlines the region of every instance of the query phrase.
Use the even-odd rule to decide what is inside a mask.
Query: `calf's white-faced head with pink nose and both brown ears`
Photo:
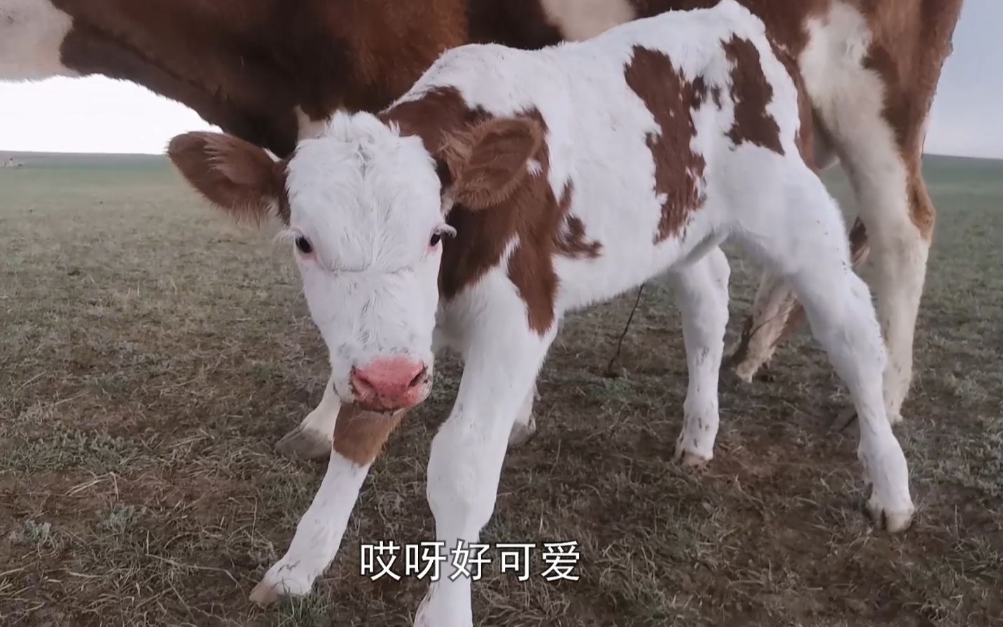
[[[460,128],[429,152],[368,113],[338,113],[292,158],[194,132],[168,152],[234,219],[280,220],[343,402],[395,410],[431,387],[437,277],[453,203],[496,211],[542,144],[529,118]]]

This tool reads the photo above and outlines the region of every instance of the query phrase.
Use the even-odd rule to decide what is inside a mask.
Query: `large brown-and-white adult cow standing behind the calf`
[[[853,183],[889,348],[885,401],[898,420],[935,219],[921,170],[926,122],[962,0],[741,2],[796,59],[814,113],[814,166],[839,156]],[[0,0],[0,78],[131,80],[284,156],[338,109],[389,104],[447,48],[487,41],[538,48],[716,3]],[[855,233],[861,249],[863,227]],[[744,378],[785,334],[793,302],[783,282],[763,277],[737,351]],[[326,454],[333,406],[322,400],[283,448]]]

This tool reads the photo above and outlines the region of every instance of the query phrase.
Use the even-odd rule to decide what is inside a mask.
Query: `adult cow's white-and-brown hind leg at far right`
[[[799,57],[815,113],[830,131],[867,227],[865,275],[888,347],[883,377],[893,421],[900,418],[912,378],[934,227],[921,171],[925,126],[961,2],[911,6],[900,12],[832,3],[827,16],[808,24],[809,42]],[[903,20],[921,24],[928,18],[935,27],[899,32]]]

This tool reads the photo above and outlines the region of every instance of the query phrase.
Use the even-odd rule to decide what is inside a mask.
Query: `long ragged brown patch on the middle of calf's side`
[[[640,46],[634,47],[624,76],[661,127],[660,133],[647,137],[655,163],[655,193],[665,197],[655,235],[658,243],[678,235],[704,202],[706,162],[692,148],[692,109],[706,100],[707,88],[702,78],[685,80],[665,54]]]

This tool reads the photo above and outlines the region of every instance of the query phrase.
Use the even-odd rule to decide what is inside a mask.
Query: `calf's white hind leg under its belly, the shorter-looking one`
[[[690,266],[669,274],[683,318],[689,387],[683,404],[683,428],[676,459],[701,465],[714,456],[717,436],[717,378],[728,324],[728,277],[731,269],[719,248]]]

